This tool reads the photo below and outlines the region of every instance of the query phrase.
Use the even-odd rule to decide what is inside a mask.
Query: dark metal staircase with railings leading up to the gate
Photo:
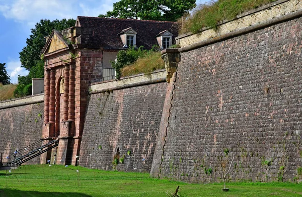
[[[22,163],[31,160],[32,158],[35,158],[42,153],[47,152],[48,150],[56,147],[59,145],[59,140],[57,139],[58,133],[55,133],[51,136],[47,136],[27,147],[21,148],[20,150],[9,156],[7,156],[8,162],[2,162],[3,160],[0,160],[0,167],[12,167],[12,166],[20,166]],[[42,143],[41,143],[42,141]]]

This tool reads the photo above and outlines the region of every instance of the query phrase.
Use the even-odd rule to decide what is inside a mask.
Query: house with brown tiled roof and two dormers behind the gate
[[[114,61],[119,50],[129,46],[151,49],[158,45],[161,49],[168,48],[174,44],[178,35],[177,23],[163,21],[144,21],[133,19],[107,19],[98,17],[77,18],[74,27],[61,32],[55,31],[65,46],[77,44],[78,48],[89,48],[102,50],[102,78],[112,77],[114,70],[110,61]],[[47,38],[47,39],[48,39]],[[42,54],[47,51],[50,40],[47,40]],[[98,80],[98,79],[96,79]]]

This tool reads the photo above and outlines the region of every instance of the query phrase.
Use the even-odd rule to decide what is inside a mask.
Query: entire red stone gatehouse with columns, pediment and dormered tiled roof
[[[175,22],[78,17],[74,27],[46,38],[43,136],[60,134],[57,159],[75,164],[91,82],[114,78],[110,61],[131,46],[161,49],[174,44]]]

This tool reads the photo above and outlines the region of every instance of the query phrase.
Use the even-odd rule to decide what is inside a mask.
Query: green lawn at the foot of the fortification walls
[[[190,184],[150,178],[148,173],[83,167],[78,182],[77,169],[27,165],[11,173],[0,171],[0,196],[168,196],[166,192],[174,192],[178,185],[181,196],[302,196],[302,184],[296,183],[234,182],[227,184],[229,192],[222,192],[222,183]]]

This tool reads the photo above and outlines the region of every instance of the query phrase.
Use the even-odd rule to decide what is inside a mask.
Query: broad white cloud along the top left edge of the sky
[[[7,19],[33,25],[41,19],[69,19],[77,16],[94,16],[112,10],[118,0],[0,0],[0,13]]]

